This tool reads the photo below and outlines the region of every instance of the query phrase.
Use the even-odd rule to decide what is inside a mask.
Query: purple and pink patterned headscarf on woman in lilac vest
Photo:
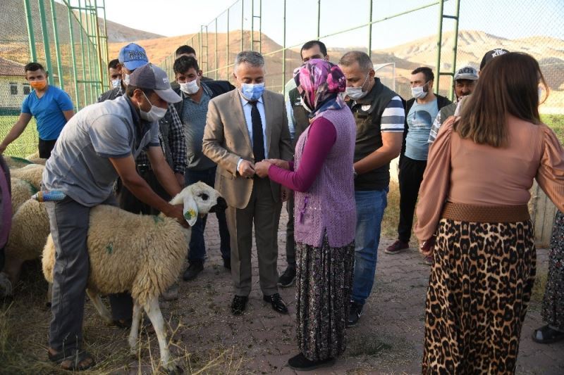
[[[337,65],[314,58],[295,70],[294,80],[305,105],[311,109],[309,117],[345,106],[339,93],[345,91],[347,84]]]

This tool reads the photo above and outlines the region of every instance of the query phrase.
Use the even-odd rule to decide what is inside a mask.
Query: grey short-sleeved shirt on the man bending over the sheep
[[[45,165],[44,186],[82,205],[98,205],[118,177],[109,158],[136,158],[149,146],[159,146],[159,124],[140,120],[128,98],[92,104],[63,127]]]

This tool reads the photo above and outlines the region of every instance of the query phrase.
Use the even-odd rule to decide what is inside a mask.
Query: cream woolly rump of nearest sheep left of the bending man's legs
[[[6,248],[6,255],[24,262],[37,259],[49,236],[47,208],[34,199],[28,199],[12,217],[12,230]]]

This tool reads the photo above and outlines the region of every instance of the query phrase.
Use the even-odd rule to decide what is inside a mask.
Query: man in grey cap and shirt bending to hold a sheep
[[[183,208],[160,198],[135,170],[135,157],[146,151],[159,182],[171,195],[180,185],[159,146],[158,120],[168,103],[180,101],[166,73],[152,64],[135,69],[125,96],[93,104],[63,128],[43,172],[44,189],[62,191],[66,198],[48,202],[51,235],[56,248],[53,317],[49,327],[49,360],[63,369],[80,371],[94,365],[81,350],[82,316],[89,274],[87,231],[90,209],[116,205],[114,182],[120,177],[140,201],[183,225]],[[130,295],[110,295],[114,319],[130,319]]]

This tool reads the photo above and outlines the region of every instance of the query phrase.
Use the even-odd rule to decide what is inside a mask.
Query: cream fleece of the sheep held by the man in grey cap
[[[135,215],[110,205],[92,208],[88,288],[102,295],[130,291],[138,303],[145,304],[178,278],[188,253],[188,235],[168,217]],[[49,282],[53,281],[54,252],[49,236],[43,254],[43,272]]]

